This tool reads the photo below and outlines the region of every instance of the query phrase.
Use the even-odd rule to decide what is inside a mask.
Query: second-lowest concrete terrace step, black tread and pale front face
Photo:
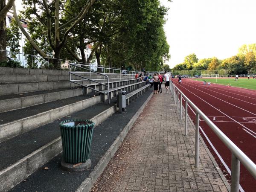
[[[82,95],[0,113],[0,142],[100,102],[100,96]]]

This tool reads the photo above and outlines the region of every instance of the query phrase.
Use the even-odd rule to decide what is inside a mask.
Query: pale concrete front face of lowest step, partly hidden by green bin
[[[95,126],[105,121],[109,116],[117,111],[116,105],[102,111],[90,120],[95,122]],[[31,154],[18,160],[6,169],[0,171],[0,191],[8,191],[17,185],[41,166],[58,155],[62,151],[61,137],[47,143]],[[88,180],[87,185],[90,184]],[[90,184],[92,185],[92,184]],[[90,186],[91,188],[91,186]]]

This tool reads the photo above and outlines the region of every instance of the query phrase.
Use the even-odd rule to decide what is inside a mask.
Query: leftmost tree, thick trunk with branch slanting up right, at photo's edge
[[[0,50],[6,50],[6,15],[12,8],[15,0],[9,0],[6,4],[6,0],[0,0]],[[0,51],[0,61],[5,61],[6,53]]]

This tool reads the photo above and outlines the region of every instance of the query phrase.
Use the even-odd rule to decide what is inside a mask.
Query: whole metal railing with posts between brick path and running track
[[[204,119],[204,122],[212,129],[212,131],[218,136],[218,138],[226,145],[226,147],[232,152],[231,160],[231,192],[239,192],[239,177],[240,177],[240,162],[250,172],[250,174],[256,179],[256,164],[244,154],[190,99],[182,93],[182,91],[170,81],[170,90],[172,97],[177,105],[177,111],[180,108],[180,120],[182,120],[182,99],[185,101],[185,136],[187,136],[187,121],[188,121],[188,104],[195,110],[195,167],[198,168],[199,164],[199,123],[200,117]],[[180,97],[180,100],[179,100]],[[180,106],[179,106],[180,102]]]

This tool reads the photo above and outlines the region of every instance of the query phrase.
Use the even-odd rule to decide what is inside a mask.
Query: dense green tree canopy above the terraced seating
[[[170,57],[163,29],[167,9],[159,0],[23,0],[23,5],[20,16],[13,9],[27,53],[34,49],[43,57],[146,70],[157,70]],[[50,61],[60,67],[58,60]]]

